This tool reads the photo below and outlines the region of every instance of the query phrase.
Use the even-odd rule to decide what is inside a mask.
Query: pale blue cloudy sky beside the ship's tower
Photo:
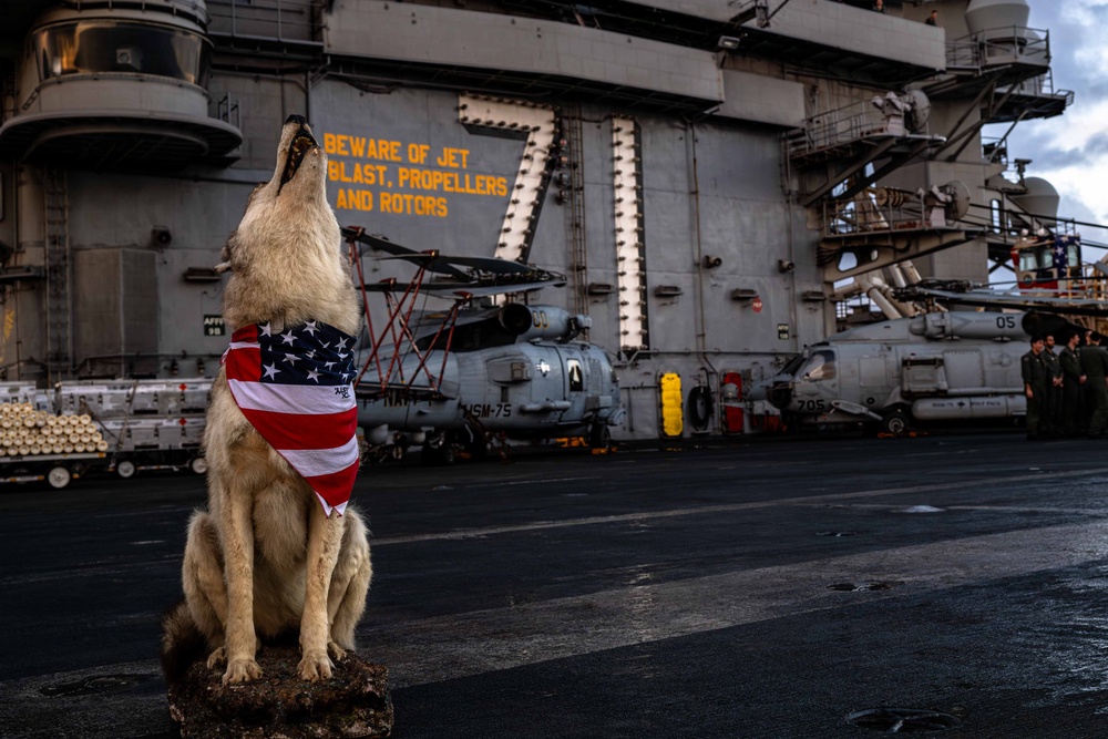
[[[1033,160],[1028,175],[1061,195],[1058,215],[1108,225],[1108,0],[1029,0],[1029,25],[1050,31],[1055,90],[1073,90],[1065,115],[1025,121],[1008,137],[1008,161]],[[988,126],[985,136],[1004,135]],[[1108,245],[1108,228],[1078,228],[1086,242]],[[1100,252],[1089,249],[1086,259]]]

